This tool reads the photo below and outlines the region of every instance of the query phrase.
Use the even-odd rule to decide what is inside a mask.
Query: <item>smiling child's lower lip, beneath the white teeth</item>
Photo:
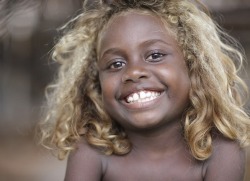
[[[126,101],[122,101],[122,104],[131,111],[140,111],[140,110],[148,110],[153,109],[155,106],[158,105],[158,103],[161,100],[161,97],[163,96],[164,92],[161,92],[161,95],[156,97],[153,100],[146,101],[146,102],[133,102],[133,103],[127,103]]]

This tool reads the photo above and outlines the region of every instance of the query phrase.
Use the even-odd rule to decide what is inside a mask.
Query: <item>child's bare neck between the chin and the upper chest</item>
[[[184,148],[185,143],[179,121],[152,130],[127,130],[133,148],[131,153],[165,155]]]

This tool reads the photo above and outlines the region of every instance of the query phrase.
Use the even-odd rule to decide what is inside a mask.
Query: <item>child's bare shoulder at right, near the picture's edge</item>
[[[217,136],[213,152],[205,164],[205,181],[242,181],[245,173],[245,150],[237,141]]]

